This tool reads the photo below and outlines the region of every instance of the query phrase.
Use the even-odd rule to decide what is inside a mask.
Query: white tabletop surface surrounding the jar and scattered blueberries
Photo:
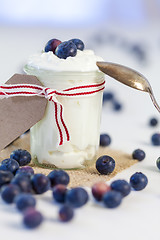
[[[3,1],[2,1],[3,2]],[[5,1],[7,2],[7,1]],[[123,14],[124,16],[124,14]],[[120,18],[121,19],[121,18]],[[4,18],[3,18],[4,21]],[[67,40],[81,38],[86,47],[95,50],[105,61],[112,61],[140,71],[150,81],[160,104],[160,31],[158,22],[140,22],[128,26],[93,24],[90,27],[34,27],[0,26],[0,81],[4,83],[15,72],[22,73],[28,56],[41,51],[51,38]],[[111,39],[112,40],[109,40]],[[101,41],[96,40],[101,38]],[[131,52],[133,44],[140,44],[147,59],[142,62]],[[96,205],[92,197],[89,203],[75,211],[73,221],[62,224],[57,220],[58,206],[53,204],[51,192],[38,196],[37,208],[44,214],[44,223],[36,230],[27,230],[22,224],[22,216],[14,205],[8,206],[0,200],[0,234],[8,239],[159,239],[160,171],[156,159],[160,147],[151,144],[151,136],[159,132],[160,124],[151,128],[148,121],[159,113],[154,108],[147,93],[133,90],[106,77],[106,90],[115,93],[123,104],[120,112],[114,112],[110,105],[102,111],[101,132],[110,134],[111,147],[132,153],[141,148],[146,152],[143,162],[118,174],[114,179],[129,180],[136,171],[148,177],[148,186],[140,192],[132,191],[116,209],[106,209]],[[3,114],[3,113],[1,113]],[[113,180],[113,179],[112,179]],[[90,193],[90,189],[87,189]]]

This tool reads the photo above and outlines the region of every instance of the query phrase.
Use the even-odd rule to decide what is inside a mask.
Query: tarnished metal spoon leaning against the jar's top
[[[118,80],[119,82],[129,87],[148,92],[154,106],[160,112],[160,106],[154,97],[151,85],[141,73],[116,63],[97,62],[96,64],[100,71]]]

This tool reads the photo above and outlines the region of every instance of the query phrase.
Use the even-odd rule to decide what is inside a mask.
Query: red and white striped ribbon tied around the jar
[[[57,100],[57,96],[80,97],[93,95],[104,89],[105,81],[99,84],[82,85],[59,91],[33,84],[0,85],[0,99],[17,96],[40,96],[54,103],[55,121],[59,132],[59,145],[70,140],[69,130],[63,117],[63,106]]]

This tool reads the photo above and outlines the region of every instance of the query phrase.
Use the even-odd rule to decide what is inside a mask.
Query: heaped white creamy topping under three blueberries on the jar
[[[75,57],[67,59],[58,58],[53,52],[37,53],[29,57],[27,65],[44,70],[52,71],[98,71],[97,61],[104,61],[96,56],[92,50],[77,50]]]

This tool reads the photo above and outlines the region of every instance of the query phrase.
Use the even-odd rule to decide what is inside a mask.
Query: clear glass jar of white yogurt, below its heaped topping
[[[28,65],[24,71],[54,90],[104,81],[104,74],[99,71],[55,72]],[[63,116],[70,134],[70,140],[60,146],[54,103],[48,102],[45,116],[31,128],[33,161],[62,169],[83,168],[95,161],[99,147],[102,94],[103,91],[86,96],[57,96],[63,105]]]

